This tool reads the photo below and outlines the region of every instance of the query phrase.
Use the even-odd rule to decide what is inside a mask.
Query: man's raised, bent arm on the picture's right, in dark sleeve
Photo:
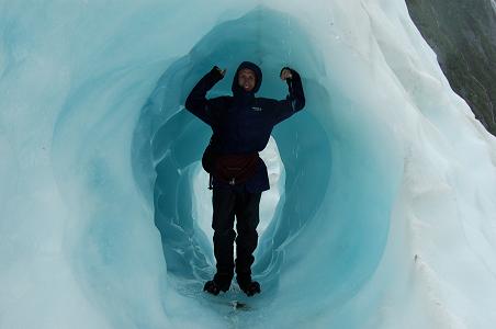
[[[280,77],[286,81],[290,93],[285,100],[277,101],[274,104],[274,125],[289,118],[305,106],[305,94],[298,72],[292,68],[284,67]]]

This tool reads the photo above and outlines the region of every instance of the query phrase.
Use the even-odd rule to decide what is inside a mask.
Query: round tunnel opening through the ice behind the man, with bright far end
[[[289,26],[288,19],[282,13],[259,8],[217,25],[190,54],[170,64],[143,107],[135,149],[151,161],[149,166],[134,166],[147,171],[145,185],[151,183],[154,186],[153,191],[149,186],[142,188],[153,194],[155,225],[161,234],[167,270],[176,277],[206,280],[212,276],[215,263],[205,224],[211,209],[211,192],[205,192],[206,173],[200,164],[211,129],[184,110],[184,99],[213,65],[228,69],[207,97],[230,94],[234,70],[243,60],[256,63],[263,71],[263,83],[257,97],[284,99],[288,87],[279,79],[281,67],[291,65],[294,57],[305,60],[312,56],[301,50],[301,44],[295,44],[295,41],[304,43],[305,37],[297,36],[301,32],[294,24]],[[303,47],[311,49],[311,45]],[[314,90],[325,93],[323,88]],[[328,99],[328,95],[322,97]],[[259,237],[253,264],[253,275],[262,282],[274,281],[282,263],[282,246],[297,236],[306,220],[313,217],[328,186],[330,145],[309,106],[312,102],[278,125],[264,150],[267,155],[261,152],[272,181],[271,190],[262,193],[263,234]],[[146,141],[144,133],[150,141]],[[302,198],[302,193],[315,197]]]

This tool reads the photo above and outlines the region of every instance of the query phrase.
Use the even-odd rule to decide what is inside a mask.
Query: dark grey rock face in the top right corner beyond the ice
[[[453,90],[496,135],[496,0],[406,0]]]

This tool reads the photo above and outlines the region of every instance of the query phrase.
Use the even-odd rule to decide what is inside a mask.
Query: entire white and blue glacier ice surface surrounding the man
[[[496,321],[496,143],[403,1],[4,1],[0,31],[1,328]],[[266,154],[250,299],[201,292],[210,131],[183,109],[243,60],[307,99]]]

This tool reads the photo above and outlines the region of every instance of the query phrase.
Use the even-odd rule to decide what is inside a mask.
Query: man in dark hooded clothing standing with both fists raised
[[[289,86],[285,100],[256,98],[262,72],[250,61],[239,65],[233,80],[233,97],[206,99],[206,92],[224,78],[226,70],[214,66],[194,86],[185,109],[212,127],[206,169],[213,188],[214,254],[217,272],[204,291],[227,292],[236,270],[236,281],[248,296],[260,293],[251,280],[253,251],[258,243],[257,225],[263,191],[270,189],[267,167],[258,152],[269,143],[272,128],[305,106],[300,75],[284,67],[280,77]],[[206,152],[205,152],[206,155]],[[204,156],[205,158],[205,156]],[[203,163],[205,167],[205,162]],[[234,222],[236,216],[236,230]],[[236,261],[234,241],[236,240]]]

